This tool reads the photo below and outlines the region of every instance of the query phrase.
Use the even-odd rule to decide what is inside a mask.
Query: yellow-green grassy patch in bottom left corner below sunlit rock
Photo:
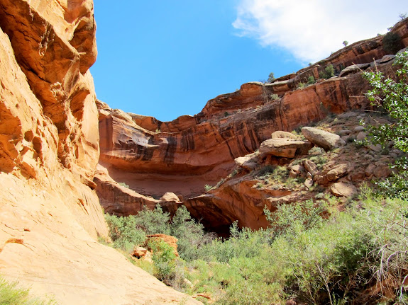
[[[0,276],[1,305],[52,305],[53,300],[42,300],[30,295],[29,289],[21,287],[18,282],[9,282]]]

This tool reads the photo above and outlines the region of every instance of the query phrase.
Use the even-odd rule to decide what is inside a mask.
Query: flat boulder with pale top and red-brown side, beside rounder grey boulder
[[[313,144],[308,141],[294,139],[268,139],[260,144],[259,151],[262,154],[272,154],[285,158],[294,158],[307,154]]]

